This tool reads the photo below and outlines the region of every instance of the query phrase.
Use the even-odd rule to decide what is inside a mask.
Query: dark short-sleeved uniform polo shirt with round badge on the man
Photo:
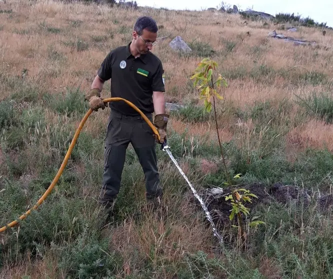
[[[165,91],[162,63],[151,52],[134,58],[129,45],[111,50],[101,63],[98,76],[103,80],[111,78],[111,97],[124,98],[143,113],[152,113],[152,92]],[[109,107],[126,115],[138,114],[124,101],[109,102]]]

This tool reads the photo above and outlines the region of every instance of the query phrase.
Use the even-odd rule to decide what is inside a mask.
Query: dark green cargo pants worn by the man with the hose
[[[152,115],[146,115],[152,121]],[[112,205],[119,188],[125,154],[131,143],[145,177],[146,199],[154,200],[162,196],[155,153],[153,131],[141,116],[126,116],[111,111],[104,146],[104,171],[99,203],[106,207]]]

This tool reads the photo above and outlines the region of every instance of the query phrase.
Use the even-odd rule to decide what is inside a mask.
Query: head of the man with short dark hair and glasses
[[[157,38],[157,24],[149,16],[139,17],[132,32],[132,45],[139,54],[145,54],[151,50]]]

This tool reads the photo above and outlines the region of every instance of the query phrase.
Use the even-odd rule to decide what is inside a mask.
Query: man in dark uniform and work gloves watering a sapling
[[[158,139],[141,115],[124,101],[104,103],[100,91],[105,80],[111,79],[111,96],[122,97],[135,104],[152,121],[159,135],[159,143],[166,139],[168,114],[164,103],[164,70],[161,61],[150,52],[157,37],[156,22],[148,16],[137,19],[132,31],[132,41],[111,50],[101,63],[85,95],[91,109],[111,108],[104,146],[104,171],[99,196],[100,205],[113,206],[119,192],[120,178],[126,148],[132,144],[145,177],[146,200],[160,201],[155,144]]]

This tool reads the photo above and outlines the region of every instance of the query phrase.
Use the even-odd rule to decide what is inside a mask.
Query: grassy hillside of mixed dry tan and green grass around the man
[[[88,109],[83,93],[143,14],[157,21],[158,36],[168,36],[153,48],[165,69],[166,101],[187,105],[171,112],[172,154],[197,191],[223,187],[213,115],[203,113],[190,80],[209,56],[228,83],[217,105],[228,169],[260,193],[248,219],[259,216],[265,224],[247,227],[239,249],[235,222],[216,217],[219,245],[186,181],[159,149],[164,211],[145,211],[143,172],[129,146],[117,214],[100,229],[105,109],[88,118],[46,201],[0,234],[0,277],[333,277],[333,31],[323,36],[320,28],[299,26],[289,33],[287,23],[244,22],[236,14],[1,1],[0,226],[49,186]],[[274,29],[317,43],[267,37]],[[191,54],[168,46],[176,35]],[[102,96],[109,96],[109,82]],[[290,186],[278,192],[276,183]],[[215,209],[222,211],[221,200]]]

